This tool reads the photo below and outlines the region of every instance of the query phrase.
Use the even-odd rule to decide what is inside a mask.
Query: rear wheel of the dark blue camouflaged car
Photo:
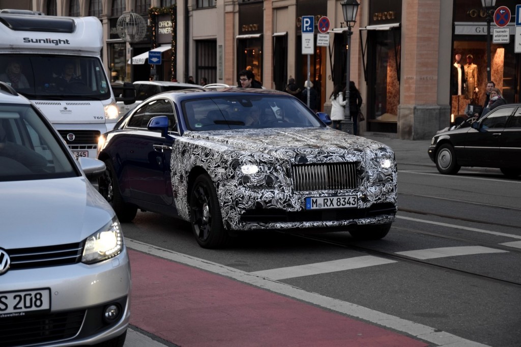
[[[138,207],[133,204],[128,204],[123,201],[121,191],[119,190],[119,183],[116,178],[116,170],[110,159],[104,161],[106,169],[105,175],[98,180],[100,192],[103,197],[110,203],[116,216],[120,222],[130,222],[138,213]]]

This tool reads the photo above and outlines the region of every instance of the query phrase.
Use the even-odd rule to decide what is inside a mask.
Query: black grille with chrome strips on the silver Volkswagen
[[[6,251],[11,258],[11,271],[42,266],[69,265],[81,261],[83,242]]]

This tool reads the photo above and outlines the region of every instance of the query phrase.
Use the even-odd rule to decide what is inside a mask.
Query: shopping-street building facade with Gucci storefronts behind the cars
[[[350,79],[364,100],[362,134],[428,139],[449,125],[451,115],[484,102],[487,14],[479,0],[359,3],[349,51],[341,0],[32,0],[29,9],[100,18],[106,42],[103,61],[114,80],[129,81],[132,76],[185,82],[193,76],[197,83],[205,78],[207,83],[237,85],[238,72],[249,68],[266,88],[283,90],[290,78],[303,88],[309,76],[322,111],[330,108],[333,86],[345,85],[349,52]],[[509,8],[512,17],[515,5],[514,0],[496,3]],[[117,34],[117,19],[130,11],[147,23],[139,42],[125,42]],[[302,54],[303,16],[314,16],[315,24],[328,17],[329,46]],[[505,28],[508,43],[491,44],[491,75],[512,103],[518,101],[521,80],[514,19]],[[315,39],[316,34],[315,28]],[[162,52],[161,65],[147,61],[151,49]],[[472,93],[452,94],[456,54],[463,56],[463,64],[468,55],[473,57],[476,78],[464,81]],[[131,57],[139,55],[145,58],[132,63]]]

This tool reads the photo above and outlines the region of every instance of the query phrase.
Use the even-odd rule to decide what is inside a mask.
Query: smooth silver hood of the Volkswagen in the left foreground
[[[84,177],[0,182],[0,247],[80,242],[114,211]]]

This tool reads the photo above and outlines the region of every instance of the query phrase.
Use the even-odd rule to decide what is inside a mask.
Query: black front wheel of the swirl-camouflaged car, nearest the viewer
[[[217,192],[208,175],[195,179],[189,201],[190,224],[197,243],[207,249],[224,246],[228,241],[228,232],[222,224]]]

